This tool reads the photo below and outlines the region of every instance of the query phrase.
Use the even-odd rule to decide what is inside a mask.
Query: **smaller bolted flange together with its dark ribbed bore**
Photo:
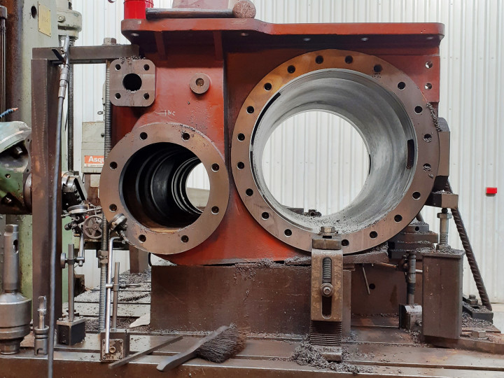
[[[152,160],[153,156],[161,158]],[[187,176],[199,162],[210,181],[203,210],[193,207],[185,192]],[[139,168],[138,164],[144,166]],[[166,186],[168,182],[172,186]],[[142,202],[145,198],[139,191],[144,186],[146,195],[158,190],[154,202]],[[177,216],[163,212],[166,208],[148,212],[170,195],[182,204],[182,209],[176,208],[177,214],[188,211],[186,223],[170,223]],[[160,255],[181,253],[201,244],[221,223],[229,200],[228,171],[221,153],[204,134],[179,123],[152,123],[135,127],[109,153],[100,179],[100,199],[108,221],[116,214],[126,216],[130,244]],[[149,218],[150,214],[155,216]],[[160,214],[165,217],[162,221],[156,218]]]

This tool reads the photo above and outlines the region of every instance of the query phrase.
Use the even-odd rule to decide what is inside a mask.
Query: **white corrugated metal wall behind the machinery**
[[[169,0],[155,6],[169,7]],[[440,116],[451,127],[451,184],[460,194],[460,209],[474,245],[491,300],[504,302],[499,272],[504,269],[504,224],[498,214],[504,202],[485,195],[487,186],[502,190],[504,156],[504,1],[503,0],[255,0],[257,18],[267,22],[442,22],[446,36],[441,43]],[[83,13],[83,32],[78,44],[102,43],[116,36],[120,43],[122,1],[74,1]],[[102,110],[103,66],[76,69],[76,125],[99,120]],[[332,118],[332,120],[331,120]],[[309,126],[311,125],[311,126]],[[313,125],[316,125],[315,132]],[[285,127],[299,130],[286,137]],[[282,133],[284,137],[282,137]],[[80,135],[80,133],[76,133]],[[290,133],[288,133],[290,134]],[[77,143],[78,145],[78,143]],[[300,153],[304,148],[304,153]],[[348,125],[324,114],[301,115],[277,130],[265,151],[265,174],[281,202],[335,211],[355,197],[367,170],[365,148]],[[76,151],[76,162],[80,161]],[[282,164],[285,160],[289,164]],[[294,169],[297,167],[297,169]],[[316,169],[314,169],[316,167]],[[336,169],[336,172],[335,172]],[[320,186],[317,175],[332,172]],[[357,174],[355,173],[357,172]],[[336,173],[336,174],[335,174]],[[343,175],[344,180],[341,180]],[[294,185],[286,183],[294,183]],[[195,179],[193,186],[203,186]],[[313,199],[307,202],[304,198]],[[434,209],[423,211],[437,230]],[[458,248],[451,223],[452,246]],[[475,293],[470,271],[465,267],[464,290]]]

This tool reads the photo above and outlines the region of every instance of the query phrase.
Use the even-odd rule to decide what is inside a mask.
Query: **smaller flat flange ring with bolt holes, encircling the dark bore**
[[[209,176],[207,206],[193,223],[180,228],[135,218],[123,194],[123,178],[134,155],[139,151],[148,152],[146,148],[158,148],[159,151],[163,144],[190,151],[202,162]],[[138,186],[127,188],[137,189]],[[201,132],[179,123],[151,123],[135,127],[109,153],[100,179],[100,200],[107,220],[111,221],[116,214],[125,214],[126,235],[130,244],[159,255],[188,251],[205,241],[223,219],[228,207],[229,191],[228,170],[216,146]],[[169,218],[169,214],[166,215]]]

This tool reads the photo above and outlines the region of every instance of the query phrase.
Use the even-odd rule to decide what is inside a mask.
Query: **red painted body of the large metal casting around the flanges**
[[[124,20],[123,34],[139,44],[144,55],[155,63],[156,98],[148,108],[114,107],[114,143],[132,127],[179,122],[207,134],[229,165],[230,139],[248,92],[279,64],[325,48],[377,55],[410,76],[433,106],[437,107],[439,101],[439,45],[444,34],[441,24]],[[307,35],[311,38],[309,44],[303,41]],[[427,68],[426,62],[432,62],[432,67]],[[211,79],[208,92],[202,95],[194,94],[189,87],[189,79],[198,72]],[[424,89],[426,83],[431,83],[431,90]],[[261,258],[285,260],[296,255],[304,252],[270,235],[248,213],[230,174],[230,199],[221,225],[199,246],[168,258],[179,265],[204,265]]]

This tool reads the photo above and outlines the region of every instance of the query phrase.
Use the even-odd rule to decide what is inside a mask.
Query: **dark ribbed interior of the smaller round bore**
[[[127,209],[146,227],[183,228],[202,214],[186,183],[200,159],[186,147],[157,143],[141,148],[123,169],[120,190]]]

